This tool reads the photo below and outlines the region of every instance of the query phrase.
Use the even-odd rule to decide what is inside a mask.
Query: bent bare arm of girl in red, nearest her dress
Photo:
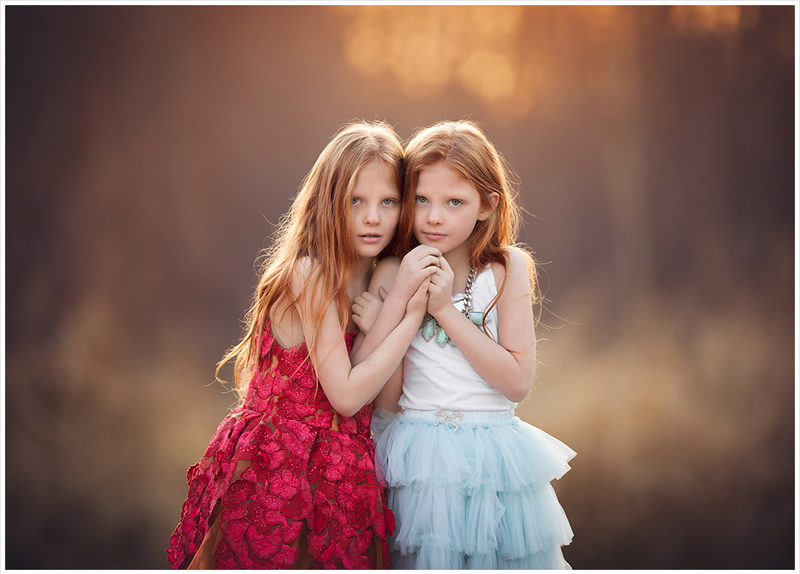
[[[303,335],[308,342],[317,332],[311,360],[319,382],[331,406],[343,416],[352,416],[375,398],[400,364],[425,313],[425,292],[418,290],[412,295],[406,316],[375,346],[373,352],[354,367],[342,336],[336,306],[328,306],[321,324],[317,325],[314,320],[313,302],[319,293],[315,288],[313,267],[314,264],[308,259],[303,260],[292,278],[292,290],[295,293],[300,292],[310,278],[309,287],[298,301]]]

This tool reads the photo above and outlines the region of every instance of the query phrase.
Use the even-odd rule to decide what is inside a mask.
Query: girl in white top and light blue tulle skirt
[[[383,259],[353,305],[367,333],[355,363],[427,288],[425,320],[375,401],[376,461],[397,523],[391,566],[569,568],[561,546],[572,530],[550,482],[575,452],[514,414],[536,365],[536,276],[514,246],[507,168],[475,124],[442,122],[406,146],[404,187],[413,222],[398,233],[418,246]]]

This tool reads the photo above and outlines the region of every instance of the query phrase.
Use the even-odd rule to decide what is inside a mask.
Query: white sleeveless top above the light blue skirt
[[[472,287],[473,312],[485,311],[496,295],[494,273],[487,265]],[[459,311],[463,309],[463,293],[453,295],[453,305]],[[489,311],[485,325],[497,341],[496,306]],[[433,338],[426,341],[422,329],[414,336],[403,359],[403,395],[398,404],[404,409],[422,411],[505,411],[517,406],[483,380],[452,343],[440,347]]]

